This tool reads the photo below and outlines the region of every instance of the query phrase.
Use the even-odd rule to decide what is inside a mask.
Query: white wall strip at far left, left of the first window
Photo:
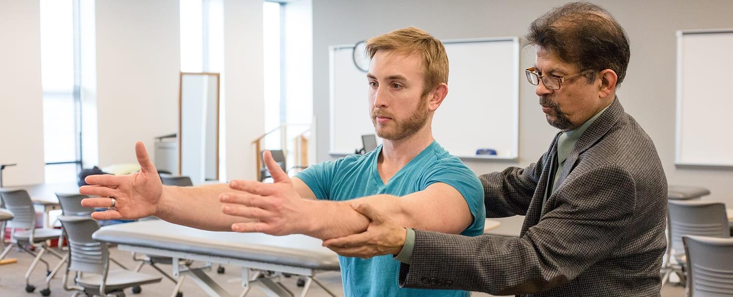
[[[0,164],[4,186],[43,183],[40,2],[0,0]]]

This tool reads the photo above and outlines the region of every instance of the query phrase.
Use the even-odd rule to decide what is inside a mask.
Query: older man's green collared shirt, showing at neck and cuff
[[[611,106],[611,104],[608,104],[608,106]],[[580,139],[583,133],[586,132],[588,127],[592,125],[593,122],[595,122],[595,120],[600,117],[601,114],[603,114],[603,111],[608,109],[608,106],[605,106],[604,109],[598,111],[597,114],[586,120],[586,122],[583,122],[583,125],[578,126],[578,128],[572,129],[570,131],[565,131],[560,134],[560,137],[557,139],[557,168],[559,170],[556,170],[555,172],[555,177],[553,179],[553,191],[555,191],[555,189],[557,188],[557,182],[560,179],[560,175],[562,174],[562,166],[564,165],[567,155],[569,155],[572,151],[572,147],[575,147],[575,143],[578,142],[578,139]],[[545,199],[542,200],[542,208],[545,208],[545,201],[548,199],[548,197],[550,197],[550,194],[545,192]],[[405,264],[410,264],[410,262],[412,261],[413,249],[415,249],[415,230],[407,228],[405,245],[402,246],[402,250],[399,251],[399,254],[397,254],[394,259]]]

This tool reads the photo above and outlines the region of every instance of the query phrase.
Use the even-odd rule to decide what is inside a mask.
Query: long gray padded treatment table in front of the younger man
[[[136,221],[102,227],[92,235],[96,241],[116,243],[117,249],[156,256],[173,257],[173,274],[190,276],[210,296],[231,296],[202,269],[177,265],[180,259],[242,267],[244,296],[251,285],[268,296],[293,296],[279,282],[260,277],[267,271],[306,276],[301,296],[311,282],[334,296],[314,275],[339,271],[336,253],[321,246],[322,241],[306,235],[273,236],[264,233],[213,232],[172,224],[163,220]],[[250,276],[250,268],[254,274]]]

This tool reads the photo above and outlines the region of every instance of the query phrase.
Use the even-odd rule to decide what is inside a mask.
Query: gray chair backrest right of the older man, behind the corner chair
[[[669,201],[670,249],[682,253],[682,236],[730,237],[726,205],[714,201]]]

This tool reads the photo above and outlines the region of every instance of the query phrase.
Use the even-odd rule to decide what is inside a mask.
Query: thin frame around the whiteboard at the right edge
[[[729,164],[690,163],[680,159],[682,147],[682,36],[692,34],[721,34],[733,33],[731,29],[691,29],[677,30],[677,109],[674,120],[674,166],[690,169],[733,169]]]

